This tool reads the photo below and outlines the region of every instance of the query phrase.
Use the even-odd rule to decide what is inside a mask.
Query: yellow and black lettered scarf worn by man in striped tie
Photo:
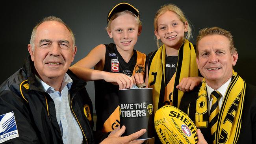
[[[232,81],[219,112],[215,135],[216,144],[236,144],[241,129],[244,97],[245,81],[233,70]],[[203,115],[208,114],[207,99],[206,82],[203,79],[196,103],[195,125],[197,128],[208,126],[208,121],[203,120]]]

